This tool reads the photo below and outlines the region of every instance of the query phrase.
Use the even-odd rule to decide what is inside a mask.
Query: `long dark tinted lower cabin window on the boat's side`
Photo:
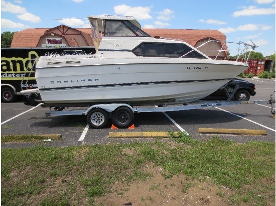
[[[155,44],[155,43],[143,43],[132,52],[136,56],[152,56],[152,57],[174,57],[179,58],[184,54],[192,51],[192,48],[186,44]],[[206,59],[197,51],[192,51],[182,58],[199,58]]]

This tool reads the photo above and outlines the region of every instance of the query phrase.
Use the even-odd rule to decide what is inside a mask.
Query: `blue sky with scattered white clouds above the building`
[[[142,28],[219,30],[226,41],[251,40],[255,52],[275,53],[275,0],[1,0],[1,33],[61,24],[90,28],[87,17],[104,14],[133,16]]]

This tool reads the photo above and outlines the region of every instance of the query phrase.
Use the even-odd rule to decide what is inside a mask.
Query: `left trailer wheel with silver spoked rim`
[[[95,108],[88,113],[86,121],[92,128],[103,128],[109,121],[108,113],[100,108]]]

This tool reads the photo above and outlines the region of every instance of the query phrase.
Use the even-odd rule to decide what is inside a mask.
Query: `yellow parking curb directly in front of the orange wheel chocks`
[[[177,132],[174,132],[177,135]],[[153,138],[162,137],[168,138],[170,135],[168,132],[109,132],[109,138]]]

